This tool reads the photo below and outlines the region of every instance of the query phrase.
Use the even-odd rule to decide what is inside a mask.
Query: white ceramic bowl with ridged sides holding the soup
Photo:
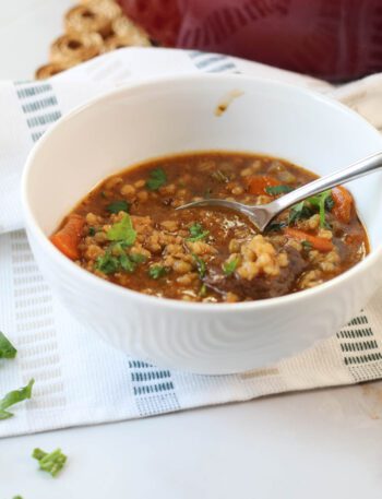
[[[243,94],[216,117],[229,92]],[[99,180],[138,162],[229,150],[286,158],[320,175],[382,148],[380,134],[344,106],[286,84],[237,75],[166,78],[122,87],[61,119],[31,153],[23,205],[36,260],[85,328],[138,358],[200,373],[275,363],[333,334],[382,283],[382,178],[350,185],[371,254],[315,288],[242,304],[158,299],[80,269],[48,240]]]

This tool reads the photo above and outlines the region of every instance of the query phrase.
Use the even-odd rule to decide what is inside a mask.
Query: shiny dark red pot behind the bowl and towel
[[[331,81],[382,70],[382,0],[120,0],[162,45]]]

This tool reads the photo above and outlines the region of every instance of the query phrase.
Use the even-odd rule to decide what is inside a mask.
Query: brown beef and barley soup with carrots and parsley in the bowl
[[[241,153],[166,157],[98,185],[51,241],[99,277],[157,297],[246,301],[311,288],[368,252],[351,194],[309,198],[259,234],[237,213],[190,201],[268,203],[315,178],[282,159]]]

